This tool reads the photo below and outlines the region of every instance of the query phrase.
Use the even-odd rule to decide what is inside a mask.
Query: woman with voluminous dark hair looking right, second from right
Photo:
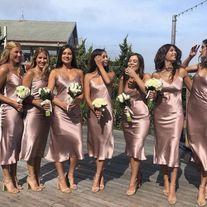
[[[154,109],[154,163],[162,166],[164,194],[170,204],[176,203],[176,181],[179,161],[179,141],[183,129],[183,82],[191,89],[191,80],[181,68],[181,51],[171,44],[163,45],[155,56],[154,78],[163,83]]]

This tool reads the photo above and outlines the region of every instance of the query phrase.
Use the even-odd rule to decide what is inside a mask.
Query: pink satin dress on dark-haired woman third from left
[[[67,99],[67,86],[79,82],[80,77],[69,80],[68,77],[59,75],[56,80],[56,97],[65,102]],[[54,106],[51,117],[50,141],[46,159],[63,162],[69,158],[83,159],[82,124],[80,106],[76,105],[71,111],[64,111]]]

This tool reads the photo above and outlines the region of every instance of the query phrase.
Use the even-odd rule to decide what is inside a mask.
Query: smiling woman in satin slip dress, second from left
[[[27,71],[22,81],[22,85],[30,88],[32,96],[25,100],[26,117],[20,159],[27,161],[27,184],[33,191],[42,190],[39,183],[40,164],[50,127],[50,118],[45,116],[44,111],[48,109],[49,104],[42,106],[38,94],[39,88],[47,86],[48,65],[48,52],[44,48],[37,48],[32,58],[31,69]]]

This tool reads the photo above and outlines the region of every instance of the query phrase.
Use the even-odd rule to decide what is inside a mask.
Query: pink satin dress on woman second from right
[[[172,83],[161,79],[163,92],[158,95],[154,110],[154,164],[179,167],[179,142],[183,129],[183,78],[174,77]]]

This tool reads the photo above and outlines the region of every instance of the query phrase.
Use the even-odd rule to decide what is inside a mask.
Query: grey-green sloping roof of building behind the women
[[[28,42],[67,42],[71,34],[77,35],[75,22],[0,20],[7,26],[7,39]]]

